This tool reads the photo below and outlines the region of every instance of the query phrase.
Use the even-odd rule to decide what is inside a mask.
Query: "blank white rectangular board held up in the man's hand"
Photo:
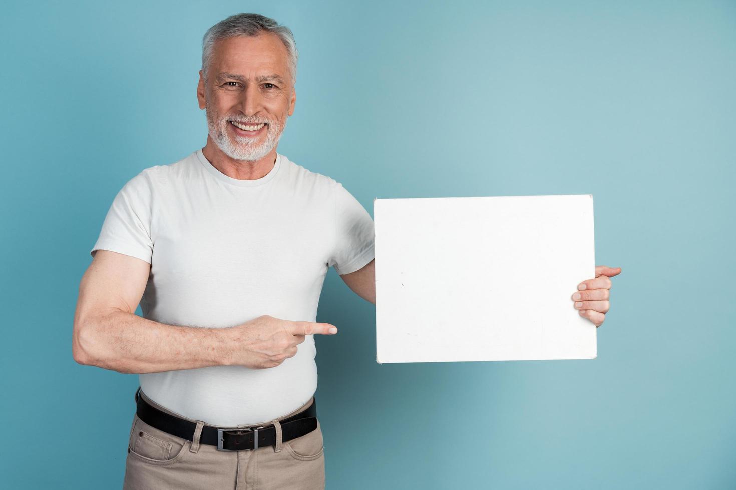
[[[375,199],[376,362],[595,359],[592,195]]]

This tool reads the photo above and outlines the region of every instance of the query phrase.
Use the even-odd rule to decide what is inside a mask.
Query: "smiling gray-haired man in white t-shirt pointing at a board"
[[[330,266],[375,303],[373,223],[341,184],[277,154],[297,57],[261,15],[210,28],[205,147],[128,181],[91,251],[74,359],[140,375],[125,489],[325,486],[313,335],[336,328],[316,309]],[[598,326],[618,271],[596,274],[573,299]]]

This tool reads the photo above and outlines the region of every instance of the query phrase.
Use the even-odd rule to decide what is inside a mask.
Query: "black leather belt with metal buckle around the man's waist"
[[[158,408],[150,406],[143,397],[138,396],[141,391],[139,387],[135,390],[135,413],[138,418],[146,424],[170,433],[172,436],[194,440],[194,429],[197,424],[179,417],[174,417]],[[309,408],[288,419],[280,421],[282,441],[291,441],[297,437],[304,436],[317,428],[317,400]],[[240,428],[216,428],[205,425],[202,427],[202,435],[199,436],[201,444],[217,446],[219,451],[244,451],[254,450],[263,446],[276,445],[276,428],[273,424],[260,425],[258,427]]]

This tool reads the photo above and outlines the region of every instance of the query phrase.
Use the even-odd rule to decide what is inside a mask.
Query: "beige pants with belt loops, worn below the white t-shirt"
[[[139,396],[160,411],[175,415],[153,403],[144,392]],[[291,441],[281,440],[279,422],[305,411],[314,397],[291,414],[258,425],[274,424],[276,445],[257,450],[218,451],[215,446],[199,444],[203,422],[197,424],[193,441],[171,436],[133,416],[125,461],[123,490],[166,489],[325,489],[325,448],[322,429]],[[182,418],[182,417],[180,417]]]

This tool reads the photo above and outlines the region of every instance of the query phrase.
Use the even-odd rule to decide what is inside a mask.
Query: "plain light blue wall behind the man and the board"
[[[374,307],[330,270],[328,489],[736,486],[735,2],[2,10],[5,488],[121,486],[138,376],[72,359],[79,280],[123,184],[205,145],[200,43],[238,12],[296,36],[278,151],[370,213],[373,198],[590,193],[596,264],[623,268],[595,361],[383,365]],[[530,308],[535,284],[518,292]]]

